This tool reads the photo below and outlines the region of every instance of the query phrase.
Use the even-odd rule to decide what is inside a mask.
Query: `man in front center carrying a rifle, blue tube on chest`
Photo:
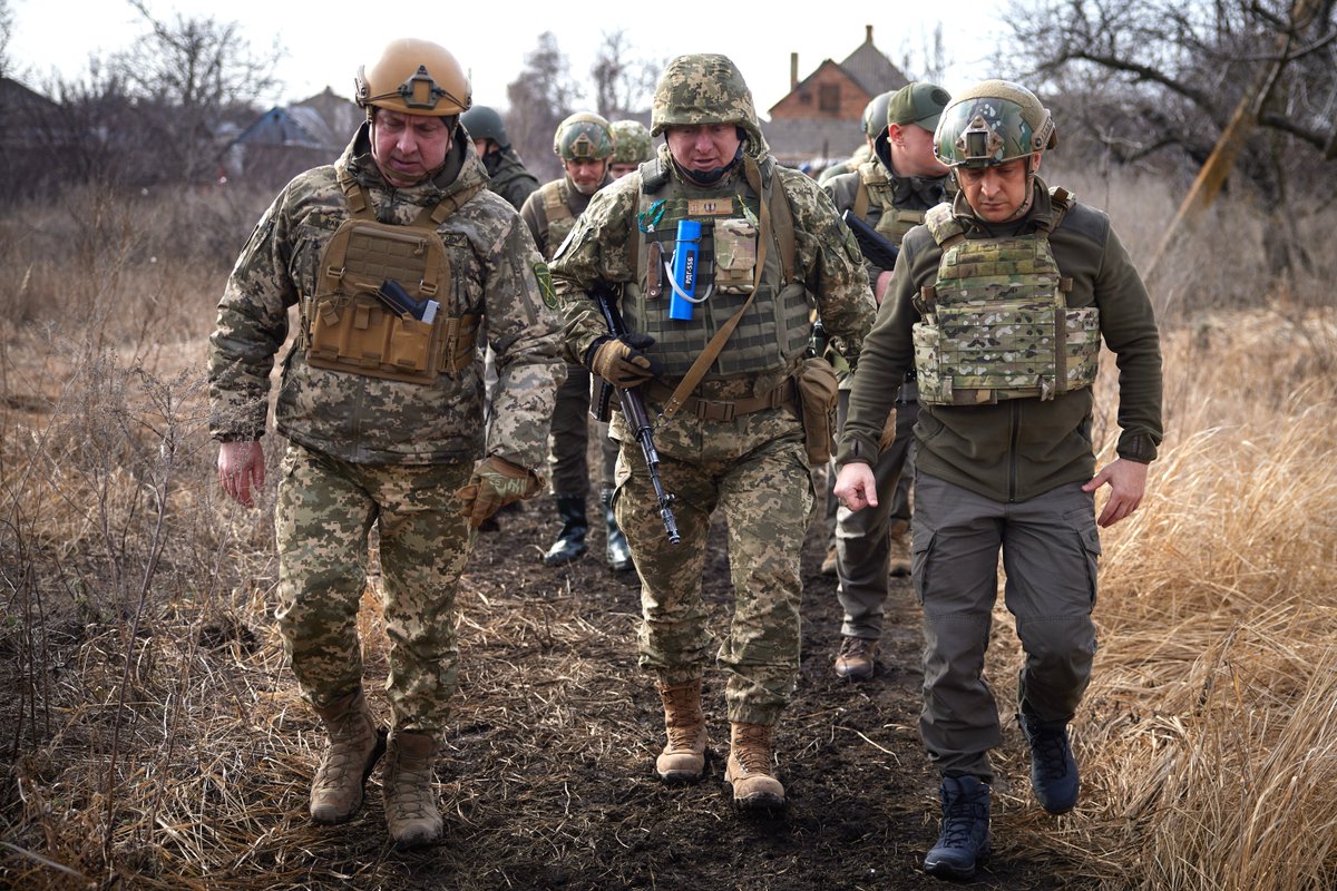
[[[853,362],[873,297],[830,200],[770,156],[733,61],[674,59],[655,91],[651,134],[664,134],[666,144],[595,195],[558,251],[554,283],[570,357],[640,393],[656,419],[663,484],[677,498],[682,541],[671,546],[640,449],[615,417],[622,456],[614,504],[640,574],[640,664],[658,681],[668,737],[656,772],[694,780],[705,771],[701,695],[711,636],[701,589],[718,513],[734,582],[717,655],[731,724],[725,777],[741,807],[774,807],[785,788],[773,728],[798,679],[800,552],[813,505],[794,377],[810,307]],[[679,223],[685,234],[701,226],[701,302],[690,319],[668,313]],[[588,297],[600,283],[620,289],[631,331],[624,339],[610,337]],[[726,327],[731,321],[737,329]],[[721,329],[723,347],[710,350]],[[694,369],[703,354],[709,367]],[[824,409],[834,407],[834,378],[830,397]]]

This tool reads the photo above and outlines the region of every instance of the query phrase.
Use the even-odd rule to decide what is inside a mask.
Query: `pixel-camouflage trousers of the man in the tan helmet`
[[[275,516],[275,617],[312,704],[362,684],[357,612],[376,524],[394,727],[444,728],[459,684],[455,594],[473,545],[453,493],[472,469],[349,464],[289,443]]]

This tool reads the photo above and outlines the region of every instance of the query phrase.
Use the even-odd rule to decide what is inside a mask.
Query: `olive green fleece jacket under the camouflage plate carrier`
[[[989,232],[957,195],[952,207],[967,238],[1027,234],[1052,219],[1054,203],[1036,178],[1035,200],[1015,224]],[[1161,426],[1161,339],[1147,290],[1102,211],[1075,203],[1050,246],[1060,274],[1072,279],[1068,307],[1096,306],[1100,335],[1119,369],[1120,458],[1148,464],[1157,457]],[[890,286],[864,342],[849,418],[840,437],[838,466],[873,465],[882,425],[902,375],[915,365],[912,298],[937,281],[943,251],[925,226],[901,243]],[[1054,399],[1004,399],[995,405],[920,405],[915,425],[916,465],[928,474],[988,498],[1016,502],[1095,474],[1090,387]]]

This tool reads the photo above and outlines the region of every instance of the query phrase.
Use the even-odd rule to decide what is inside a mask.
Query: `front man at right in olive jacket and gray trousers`
[[[924,867],[968,878],[989,854],[988,751],[1001,743],[984,681],[997,596],[1025,660],[1016,716],[1050,814],[1078,801],[1068,743],[1091,675],[1099,526],[1127,517],[1161,442],[1151,301],[1110,219],[1036,175],[1056,143],[1035,95],[987,80],[935,135],[960,187],[901,243],[854,375],[836,494],[876,505],[872,465],[897,385],[919,373],[913,578],[924,606],[920,732],[939,769],[943,834]],[[1118,458],[1096,473],[1091,385],[1100,341],[1119,367]],[[1094,493],[1110,486],[1099,518]]]

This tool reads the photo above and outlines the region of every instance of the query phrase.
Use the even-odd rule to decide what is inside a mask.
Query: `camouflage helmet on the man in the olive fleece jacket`
[[[985,80],[952,100],[933,134],[948,167],[996,167],[1059,144],[1050,110],[1009,80]]]

